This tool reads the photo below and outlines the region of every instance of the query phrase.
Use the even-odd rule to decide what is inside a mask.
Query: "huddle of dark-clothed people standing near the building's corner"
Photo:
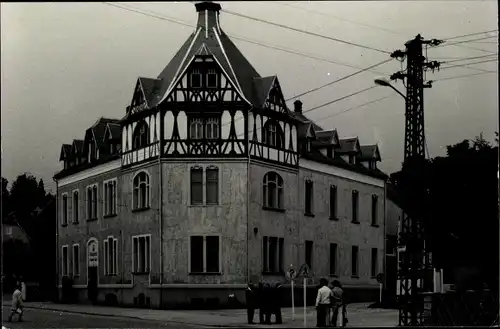
[[[280,283],[269,284],[260,282],[258,287],[255,287],[250,282],[245,294],[248,324],[255,324],[253,319],[256,309],[259,310],[259,323],[271,324],[271,316],[274,314],[276,318],[275,324],[282,324],[282,294]]]

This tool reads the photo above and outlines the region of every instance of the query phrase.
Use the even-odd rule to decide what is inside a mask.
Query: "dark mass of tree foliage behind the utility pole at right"
[[[477,267],[498,284],[497,170],[498,146],[481,134],[391,175],[424,222],[437,267]]]

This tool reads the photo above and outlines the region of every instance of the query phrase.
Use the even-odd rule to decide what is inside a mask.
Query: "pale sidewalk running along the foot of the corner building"
[[[395,310],[368,309],[368,303],[351,304],[347,308],[348,327],[358,326],[384,326],[392,327],[398,323],[398,313]],[[10,302],[4,300],[4,307],[10,307]],[[123,318],[136,318],[141,320],[177,322],[193,326],[204,327],[266,327],[265,325],[248,325],[246,323],[246,310],[147,310],[136,308],[120,308],[108,306],[54,304],[50,302],[27,302],[26,309],[44,309],[59,312],[78,313],[87,315],[117,316]],[[316,311],[314,307],[306,309],[307,327],[316,326]],[[275,328],[303,328],[304,309],[295,308],[295,320],[292,321],[292,309],[283,308],[283,324],[272,325]],[[274,320],[274,317],[272,317]],[[254,321],[258,321],[256,311]]]

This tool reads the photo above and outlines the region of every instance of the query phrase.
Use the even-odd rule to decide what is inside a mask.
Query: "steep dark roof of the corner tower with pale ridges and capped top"
[[[146,89],[153,90],[148,96],[149,108],[166,99],[174,82],[180,78],[195,55],[212,55],[233,85],[252,105],[256,105],[254,103],[258,96],[256,97],[253,78],[260,78],[260,75],[221,29],[219,22],[221,6],[218,3],[201,2],[195,4],[195,7],[198,12],[196,30],[184,42],[158,78],[148,81],[151,86]]]

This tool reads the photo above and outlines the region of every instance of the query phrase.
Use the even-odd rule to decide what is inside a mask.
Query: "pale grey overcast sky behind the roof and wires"
[[[184,24],[195,25],[197,20],[193,2],[114,4]],[[444,155],[446,145],[472,139],[481,132],[487,140],[494,140],[499,121],[496,1],[221,5],[228,12],[389,52],[404,50],[405,42],[418,33],[426,39],[447,39],[496,30],[451,39],[449,45],[428,49],[429,60],[454,61],[441,64],[454,67],[428,72],[426,79],[435,82],[431,89],[425,89],[424,96],[431,157]],[[261,76],[278,75],[285,99],[389,58],[384,52],[226,12],[221,12],[220,23],[229,36],[246,40],[232,39]],[[156,78],[193,30],[106,3],[2,3],[2,176],[12,181],[30,172],[54,191],[52,177],[61,169],[61,145],[83,139],[85,130],[99,117],[122,118],[137,78]],[[459,41],[467,42],[451,45]],[[486,55],[490,56],[457,61]],[[489,62],[456,66],[485,60]],[[401,68],[400,62],[392,60],[375,68],[377,72],[365,71],[300,100],[307,110],[371,87],[375,78],[388,77]],[[456,78],[464,75],[473,76]],[[394,86],[404,92],[401,81]],[[389,97],[375,101],[385,96]],[[404,100],[390,88],[370,89],[308,116],[325,129],[337,129],[341,138],[358,136],[362,145],[378,143],[380,169],[391,173],[400,168]]]

